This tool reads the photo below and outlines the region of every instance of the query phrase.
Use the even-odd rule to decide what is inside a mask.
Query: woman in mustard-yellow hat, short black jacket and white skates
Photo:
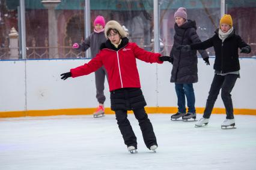
[[[215,35],[204,42],[181,45],[178,47],[184,51],[195,49],[206,49],[213,47],[215,49],[215,76],[210,87],[209,96],[206,102],[203,118],[198,120],[196,126],[207,125],[210,115],[215,104],[215,101],[221,90],[221,98],[224,102],[227,117],[221,124],[222,128],[232,126],[234,128],[235,120],[233,114],[233,103],[231,99],[231,91],[236,83],[237,78],[240,77],[239,70],[239,55],[238,48],[241,48],[240,53],[250,53],[251,47],[246,44],[239,35],[235,34],[233,28],[233,21],[230,15],[224,15],[220,22],[220,28],[215,31]]]

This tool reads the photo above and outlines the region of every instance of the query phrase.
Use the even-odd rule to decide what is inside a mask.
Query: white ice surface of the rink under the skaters
[[[237,129],[228,130],[221,129],[224,114],[212,114],[204,128],[171,114],[148,116],[156,153],[133,114],[137,154],[127,151],[113,114],[0,119],[0,169],[256,169],[256,116],[235,115]]]

